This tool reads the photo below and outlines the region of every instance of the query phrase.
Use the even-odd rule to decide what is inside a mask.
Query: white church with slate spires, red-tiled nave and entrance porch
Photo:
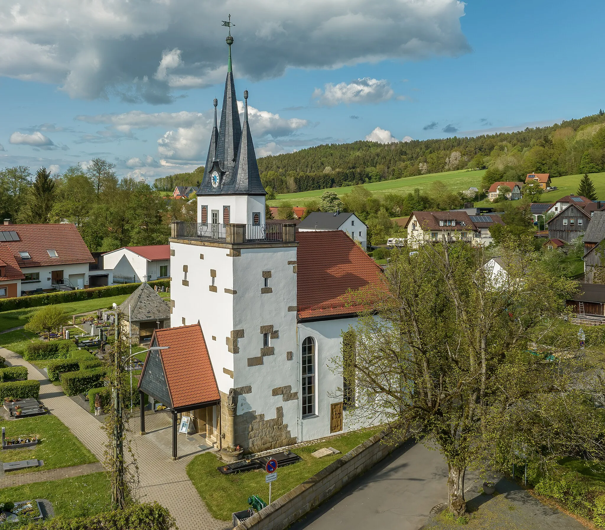
[[[233,38],[226,40],[220,126],[215,99],[197,222],[174,222],[169,239],[171,325],[182,326],[171,333],[195,333],[195,340],[203,340],[212,366],[204,385],[217,388],[216,394],[208,391],[217,398],[197,395],[201,383],[192,371],[199,359],[185,352],[186,338],[149,354],[139,388],[151,393],[154,385],[168,386],[164,395],[172,408],[203,418],[204,429],[223,449],[260,452],[353,428],[343,422],[343,408],[353,398],[344,403],[342,374],[332,359],[342,356],[342,333],[356,325],[361,310],[347,305],[345,294],[379,288],[382,271],[344,231],[303,232],[267,222],[248,92],[242,124]],[[162,333],[156,331],[152,346],[168,344]],[[152,365],[160,372],[165,366],[164,374],[154,379]],[[186,394],[197,409],[185,412]]]

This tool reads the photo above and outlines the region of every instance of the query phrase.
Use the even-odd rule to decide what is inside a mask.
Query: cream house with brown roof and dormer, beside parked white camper
[[[467,241],[473,247],[486,247],[492,242],[489,228],[494,224],[504,224],[497,214],[469,216],[464,210],[414,211],[405,228],[408,231],[408,245],[414,248],[423,241],[444,238],[448,241]]]

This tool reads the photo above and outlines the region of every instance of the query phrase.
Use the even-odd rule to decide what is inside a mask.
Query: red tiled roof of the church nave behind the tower
[[[296,298],[301,319],[353,314],[345,294],[368,285],[382,289],[382,270],[342,230],[296,232]]]

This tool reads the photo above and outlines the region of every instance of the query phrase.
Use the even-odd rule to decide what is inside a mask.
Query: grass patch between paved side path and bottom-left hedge
[[[47,499],[55,515],[87,517],[110,509],[110,483],[105,473],[91,473],[71,479],[34,482],[0,489],[0,502]]]

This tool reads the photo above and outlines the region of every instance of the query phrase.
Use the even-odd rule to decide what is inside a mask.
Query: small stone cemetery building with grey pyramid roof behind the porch
[[[154,330],[170,327],[170,307],[148,283],[143,282],[122,304],[122,327],[132,344],[151,339]]]

